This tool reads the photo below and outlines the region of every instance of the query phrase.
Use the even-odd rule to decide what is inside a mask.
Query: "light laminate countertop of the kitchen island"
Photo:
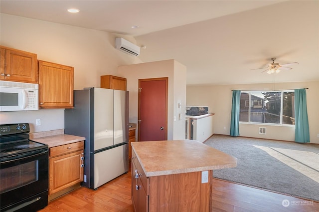
[[[146,177],[232,168],[237,158],[195,140],[133,142]]]

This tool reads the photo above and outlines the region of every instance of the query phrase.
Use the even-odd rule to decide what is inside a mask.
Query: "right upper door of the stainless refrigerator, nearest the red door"
[[[114,90],[114,144],[125,142],[127,126],[125,125],[126,92]]]

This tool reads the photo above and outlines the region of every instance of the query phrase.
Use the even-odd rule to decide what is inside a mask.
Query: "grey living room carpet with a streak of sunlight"
[[[204,144],[237,158],[215,178],[319,201],[319,145],[213,135]]]

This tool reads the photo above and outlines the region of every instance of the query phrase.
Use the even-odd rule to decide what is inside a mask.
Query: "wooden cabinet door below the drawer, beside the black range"
[[[83,181],[83,150],[49,159],[49,195]]]

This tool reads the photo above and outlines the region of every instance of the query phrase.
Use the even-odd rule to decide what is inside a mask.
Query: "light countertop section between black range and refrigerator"
[[[80,136],[68,135],[68,134],[60,134],[60,135],[32,138],[31,140],[42,143],[42,144],[47,144],[50,148],[50,147],[56,147],[56,146],[60,146],[64,144],[84,141],[85,138]]]

